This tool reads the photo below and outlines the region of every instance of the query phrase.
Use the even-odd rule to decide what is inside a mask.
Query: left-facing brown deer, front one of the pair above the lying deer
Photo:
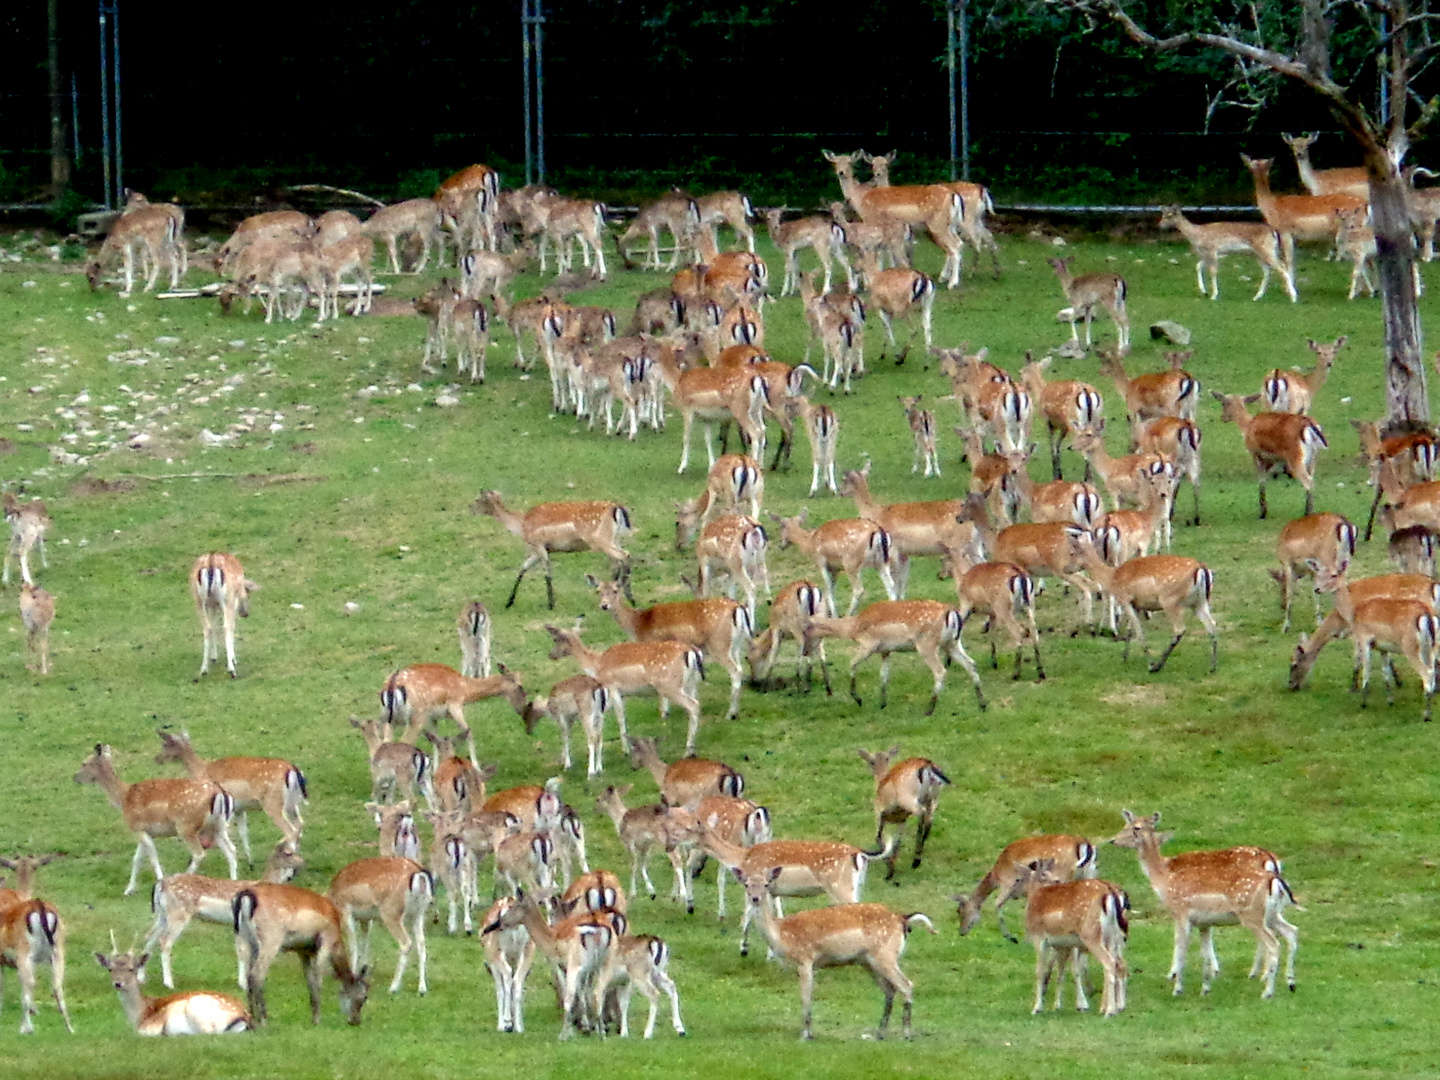
[[[156,837],[179,837],[184,841],[190,848],[190,865],[184,873],[193,874],[213,845],[225,855],[230,878],[236,877],[235,845],[230,842],[235,799],[220,785],[210,780],[125,783],[115,773],[111,749],[105,743],[95,744],[95,752],[85,759],[73,779],[76,783],[98,785],[124,816],[125,828],[138,840],[125,896],[135,891],[140,863],[145,855],[150,855],[156,880],[166,876],[156,850]]]

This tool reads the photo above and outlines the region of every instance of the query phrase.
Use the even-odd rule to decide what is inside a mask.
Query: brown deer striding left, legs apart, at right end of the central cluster
[[[1140,651],[1149,660],[1140,612],[1164,612],[1171,625],[1171,641],[1159,660],[1149,664],[1151,674],[1158,674],[1185,636],[1185,612],[1194,612],[1210,634],[1210,672],[1215,672],[1220,662],[1220,628],[1210,613],[1215,575],[1208,566],[1198,559],[1179,554],[1145,554],[1116,569],[1100,559],[1089,537],[1080,539],[1080,553],[1090,576],[1130,619],[1130,634],[1125,638],[1122,660],[1130,658],[1130,641],[1135,638],[1139,638]]]

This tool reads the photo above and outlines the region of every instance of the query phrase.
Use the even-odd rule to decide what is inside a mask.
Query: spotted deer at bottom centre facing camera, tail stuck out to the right
[[[930,933],[936,932],[935,924],[922,912],[899,914],[884,904],[840,904],[776,919],[770,910],[769,887],[782,873],[780,867],[770,867],[768,871],[744,874],[740,880],[749,909],[756,913],[770,949],[799,968],[801,1038],[814,1038],[811,1002],[815,994],[815,968],[852,963],[864,966],[886,995],[876,1038],[886,1037],[896,995],[901,999],[901,1031],[910,1038],[914,985],[900,971],[900,953],[904,952],[912,924],[919,923]]]

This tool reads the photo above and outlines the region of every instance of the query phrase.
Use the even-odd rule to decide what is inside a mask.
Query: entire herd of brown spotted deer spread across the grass
[[[1161,225],[1179,229],[1197,255],[1202,295],[1218,298],[1223,255],[1250,252],[1264,274],[1254,298],[1264,295],[1274,274],[1290,300],[1297,300],[1296,242],[1336,236],[1341,253],[1356,264],[1356,282],[1368,279],[1361,252],[1361,233],[1368,232],[1362,220],[1364,177],[1349,176],[1356,170],[1315,173],[1308,160],[1310,140],[1290,141],[1312,194],[1272,193],[1270,163],[1247,158],[1263,225],[1195,225],[1178,209],[1165,212]],[[1051,261],[1067,302],[1061,315],[1070,323],[1071,340],[1079,343],[1076,324],[1083,321],[1084,346],[1090,347],[1092,323],[1102,311],[1117,328],[1116,347],[1100,350],[1099,372],[1110,383],[1104,390],[1080,379],[1056,377],[1051,356],[1027,354],[1012,376],[991,360],[986,348],[972,350],[968,343],[935,347],[936,285],[943,281],[953,288],[959,282],[963,249],[988,253],[999,274],[998,245],[985,225],[992,212],[988,192],[962,183],[891,186],[893,154],[827,151],[825,157],[844,203],[834,203],[827,216],[791,222],[779,209],[763,215],[785,259],[779,295],[799,294],[809,341],[819,346],[819,370],[806,363],[808,350],[795,364],[780,363],[765,350],[765,308],[773,302],[769,272],[755,253],[755,207],[739,193],[698,199],[670,193],[642,207],[613,240],[603,206],[540,187],[501,190],[494,170],[472,166],[442,183],[432,199],[380,209],[364,223],[350,215],[311,220],[291,212],[265,213],[248,219],[220,246],[215,266],[228,278],[222,304],[229,308],[238,300],[264,298],[266,321],[295,318],[310,302],[320,318],[338,317],[338,287],[346,275],[356,278],[354,314],[372,310],[376,242],[383,245],[395,274],[416,249],[412,272],[425,269],[432,249],[444,265],[449,246],[456,278],[445,278],[410,308],[429,321],[426,367],[432,359],[445,363],[454,347],[456,370],[468,370],[482,382],[490,330],[504,325],[516,338],[518,366],[528,370],[536,359],[544,360],[556,412],[588,418],[592,426],[603,412],[608,432],[635,439],[642,429],[662,429],[668,395],[684,429],[681,475],[690,465],[693,428],[697,422],[704,426],[704,487],[696,498],[675,504],[677,552],[694,546],[694,569],[681,580],[696,596],[649,606],[636,602],[632,556],[625,547],[636,524],[622,503],[559,501],[511,508],[500,491],[481,491],[474,513],[500,526],[482,526],[487,539],[498,547],[511,543],[501,536],[508,533],[520,541],[517,550],[524,549],[505,608],[517,602],[526,573],[539,566],[553,609],[553,556],[599,553],[609,562],[609,575],[586,575],[585,580],[595,589],[599,611],[609,613],[625,639],[608,647],[590,644],[582,621],[544,625],[550,658],[573,662],[575,674],[533,694],[504,664],[491,672],[490,611],[480,600],[467,603],[455,624],[459,668],[438,662],[397,668],[379,690],[377,714],[350,720],[363,736],[372,778],[363,805],[374,816],[377,841],[374,854],[341,867],[324,891],[294,881],[305,867],[301,845],[311,792],[304,772],[289,760],[206,759],[186,732],[161,729],[156,762],[176,762],[187,776],[127,783],[111,747],[95,746],[75,780],[99,786],[135,840],[124,891],[128,896],[138,888],[147,863],[156,878],[154,919],[144,946],[121,952],[112,936],[109,952],[95,953],[137,1032],[220,1034],[264,1025],[266,976],[287,952],[295,953],[304,968],[312,1021],[320,1022],[324,985],[333,976],[341,1015],[359,1024],[370,988],[370,935],[376,922],[397,946],[392,994],[400,992],[412,960],[416,989],[426,994],[426,930],[439,919],[444,891],[448,932],[464,929],[481,940],[477,960],[494,981],[498,1031],[524,1031],[524,988],[539,956],[553,976],[562,1038],[577,1032],[603,1037],[608,1031],[626,1035],[629,1001],[636,991],[649,1007],[645,1038],[652,1037],[667,1001],[672,1028],[683,1035],[670,946],[631,926],[649,910],[641,894],[652,901],[658,896],[651,863],[662,854],[671,867],[670,897],[687,912],[694,912],[694,881],[707,858],[719,867],[720,919],[726,917],[727,878],[740,883],[740,952],[747,953],[750,929],[757,927],[770,955],[798,969],[804,1038],[812,1031],[815,969],[844,965],[865,968],[883,992],[878,1035],[884,1035],[899,996],[909,1037],[914,984],[900,960],[912,929],[936,933],[936,927],[924,913],[865,903],[863,894],[873,864],[886,864],[887,878],[897,876],[900,832],[912,818],[916,838],[910,870],[922,868],[950,779],[935,760],[901,759],[900,746],[860,749],[873,779],[874,845],[776,838],[778,831],[783,832],[783,812],[772,816],[772,806],[756,801],[736,768],[696,756],[707,664],[717,664],[727,675],[727,717],[742,713],[747,687],[766,691],[786,684],[778,674],[786,642],[793,642],[796,654],[792,685],[808,690],[818,664],[825,691],[831,693],[825,649],[834,639],[852,644],[850,694],[857,706],[864,703],[857,675],[865,660],[880,657],[877,706],[884,708],[893,654],[914,652],[932,674],[926,716],[939,704],[952,662],[969,677],[976,707],[984,710],[981,670],[963,641],[971,616],[985,616],[991,667],[998,667],[996,638],[1004,635],[1015,649],[1014,678],[1021,678],[1030,657],[1037,680],[1044,680],[1041,624],[1060,616],[1051,611],[1040,619],[1037,608],[1045,580],[1054,579],[1074,596],[1076,632],[1094,634],[1107,624],[1110,634],[1123,638],[1125,658],[1136,639],[1148,655],[1145,624],[1151,615],[1161,615],[1171,636],[1151,664],[1151,671],[1158,672],[1194,618],[1210,638],[1208,670],[1215,671],[1218,625],[1210,608],[1215,573],[1197,559],[1171,553],[1182,481],[1192,490],[1192,513],[1182,521],[1200,524],[1198,406],[1204,395],[1200,379],[1187,370],[1194,354],[1166,353],[1159,372],[1128,372],[1126,281],[1113,272],[1076,274],[1071,259]],[[870,180],[855,177],[857,163],[870,164]],[[719,249],[721,223],[733,230],[737,251]],[[179,207],[132,196],[89,268],[92,285],[111,261],[120,261],[127,292],[137,269],[145,288],[153,288],[161,264],[168,265],[174,285],[186,268],[183,228]],[[907,265],[917,232],[927,233],[943,252],[945,265],[936,278]],[[668,252],[661,248],[667,233]],[[624,337],[618,336],[618,312],[564,300],[569,289],[606,275],[608,242],[618,243],[625,266],[632,265],[628,245],[644,242],[644,266],[674,275],[670,288],[638,298]],[[1368,243],[1372,255],[1372,233]],[[822,275],[801,272],[798,255],[806,248],[818,258]],[[585,272],[576,269],[576,249]],[[539,259],[544,272],[550,255],[563,281],[534,300],[513,300],[508,291],[516,275],[530,259]],[[955,432],[971,471],[968,491],[952,498],[888,503],[871,491],[870,464],[837,469],[840,410],[812,402],[809,395],[818,386],[848,395],[865,376],[867,308],[880,312],[888,348],[897,347],[896,324],[909,325],[910,341],[899,351],[897,363],[906,360],[919,333],[926,357],[937,360],[949,384],[946,396],[899,400],[897,426],[903,415],[914,445],[912,472],[924,480],[942,478],[940,409],[953,402],[952,416],[959,420]],[[531,346],[528,357],[523,341]],[[1378,649],[1392,690],[1398,684],[1398,654],[1420,678],[1428,720],[1440,649],[1440,585],[1431,577],[1440,533],[1440,481],[1434,477],[1440,454],[1430,435],[1385,435],[1377,425],[1356,425],[1375,487],[1365,537],[1378,517],[1391,531],[1390,552],[1398,572],[1349,580],[1359,530],[1339,514],[1315,513],[1315,477],[1329,441],[1310,418],[1345,341],[1309,341],[1316,357],[1309,373],[1274,369],[1259,380],[1256,392],[1211,392],[1221,403],[1221,420],[1237,425],[1254,462],[1260,517],[1269,513],[1266,482],[1272,475],[1287,474],[1306,492],[1305,516],[1280,530],[1280,569],[1273,572],[1286,631],[1300,580],[1309,579],[1315,593],[1316,629],[1299,638],[1292,688],[1303,685],[1323,645],[1348,632],[1356,687],[1368,691],[1371,657]],[[1060,356],[1066,356],[1064,350]],[[1128,425],[1119,456],[1112,456],[1106,442],[1103,396],[1112,390]],[[1263,410],[1253,413],[1250,408],[1257,403]],[[612,416],[616,405],[618,423]],[[1035,449],[1031,433],[1041,418],[1048,435],[1048,478],[1037,481],[1030,472]],[[824,487],[852,501],[854,517],[812,523],[805,508],[792,516],[765,510],[768,428],[779,431],[769,462],[773,469],[789,459],[795,420],[802,423],[812,451],[809,495]],[[716,456],[716,426],[721,441],[734,428],[742,452],[721,446]],[[1067,452],[1076,456],[1070,459]],[[1071,474],[1083,468],[1083,478],[1066,480],[1067,465]],[[35,583],[30,556],[37,550],[42,566],[48,566],[45,533],[50,518],[40,501],[23,503],[12,492],[4,494],[4,517],[12,531],[4,582],[17,560],[32,667],[46,674],[55,600]],[[814,564],[814,575],[772,589],[769,559],[786,549],[795,550],[786,557]],[[917,559],[936,560],[940,576],[953,582],[953,600],[907,596]],[[837,575],[844,575],[848,585],[844,612],[835,596]],[[867,575],[878,582],[881,599],[867,602]],[[190,590],[202,625],[202,677],[212,661],[219,661],[222,636],[226,670],[232,678],[239,674],[236,619],[249,615],[251,593],[258,588],[235,554],[213,552],[196,560]],[[1325,616],[1322,592],[1335,598]],[[1102,600],[1102,616],[1096,615],[1096,599]],[[626,703],[641,696],[658,697],[661,717],[671,704],[685,713],[683,757],[667,762],[658,739],[631,733]],[[622,874],[592,868],[585,816],[564,802],[560,776],[495,786],[498,769],[482,763],[482,750],[497,726],[513,723],[504,707],[484,704],[495,698],[503,698],[527,734],[533,736],[546,720],[554,721],[562,775],[573,765],[570,733],[577,721],[588,750],[586,783],[605,783],[611,779],[606,773],[616,768],[615,750],[609,760],[605,755],[606,716],[613,716],[621,757],[649,773],[658,789],[655,801],[638,802],[632,783],[605,783],[593,805],[585,808],[593,819],[609,819],[613,827],[631,861],[628,887]],[[454,730],[442,733],[442,723]],[[262,812],[279,835],[261,877],[240,880],[239,854],[253,865],[252,809]],[[1254,936],[1250,973],[1260,978],[1266,998],[1274,992],[1283,943],[1284,978],[1293,991],[1297,932],[1284,909],[1295,907],[1296,899],[1280,858],[1259,847],[1166,857],[1161,847],[1171,834],[1158,832],[1159,816],[1123,811],[1125,828],[1110,842],[1136,851],[1159,907],[1174,920],[1174,994],[1182,991],[1192,929],[1200,932],[1202,992],[1210,991],[1220,966],[1214,927],[1227,924],[1244,926]],[[429,825],[429,844],[422,842],[418,822]],[[232,824],[239,828],[242,852],[230,840]],[[164,837],[176,837],[189,848],[183,873],[164,873],[156,842]],[[225,878],[197,873],[212,847],[225,858]],[[1002,909],[1022,900],[1025,936],[1037,952],[1032,1011],[1044,1008],[1053,978],[1053,1005],[1060,1008],[1067,965],[1076,1005],[1089,1009],[1086,963],[1093,956],[1102,969],[1102,1015],[1122,1012],[1129,979],[1130,899],[1120,886],[1097,877],[1097,844],[1067,834],[1024,837],[996,847],[1002,850],[979,884],[955,896],[959,932],[971,933],[984,904],[995,896],[1001,933],[1015,940]],[[480,886],[480,865],[487,855],[495,883],[488,907]],[[14,966],[19,972],[22,1032],[33,1030],[39,968],[49,969],[55,1002],[71,1027],[63,991],[65,922],[53,904],[33,896],[36,871],[53,858],[0,858],[0,865],[14,873],[13,886],[0,887],[0,968]],[[786,916],[782,900],[788,897],[824,897],[828,904]],[[174,988],[173,952],[196,920],[230,929],[243,999],[213,989],[160,998],[144,994],[144,966],[156,949],[161,981]]]

